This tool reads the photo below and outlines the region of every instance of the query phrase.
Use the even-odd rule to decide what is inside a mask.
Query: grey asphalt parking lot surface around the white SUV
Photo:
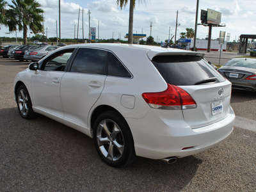
[[[244,123],[220,145],[175,164],[138,157],[118,169],[81,132],[45,116],[20,117],[13,79],[27,67],[0,58],[0,191],[256,191],[256,132],[246,129],[256,127],[256,93],[232,91]]]

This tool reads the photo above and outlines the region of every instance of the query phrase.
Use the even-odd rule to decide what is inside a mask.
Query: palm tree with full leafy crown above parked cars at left
[[[6,10],[7,25],[9,31],[23,30],[23,44],[28,43],[28,28],[33,33],[43,32],[42,22],[44,11],[40,8],[41,4],[34,0],[12,0],[9,10]]]

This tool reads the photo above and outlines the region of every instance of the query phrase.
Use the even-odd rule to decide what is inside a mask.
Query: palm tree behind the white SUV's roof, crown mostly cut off
[[[128,31],[128,44],[133,44],[132,33],[133,33],[133,11],[135,9],[135,1],[130,0],[130,8],[129,8],[129,31]],[[143,0],[138,0],[143,1]],[[145,0],[144,0],[145,1]],[[121,10],[128,3],[128,0],[116,0],[118,6],[120,6]]]

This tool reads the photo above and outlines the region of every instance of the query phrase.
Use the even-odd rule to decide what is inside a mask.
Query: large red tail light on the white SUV
[[[141,96],[151,108],[195,109],[196,102],[188,92],[172,84],[167,84],[164,92],[143,93]]]

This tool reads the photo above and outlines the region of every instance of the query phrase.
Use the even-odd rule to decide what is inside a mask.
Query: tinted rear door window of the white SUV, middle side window
[[[81,48],[70,68],[70,72],[106,75],[108,52]]]

